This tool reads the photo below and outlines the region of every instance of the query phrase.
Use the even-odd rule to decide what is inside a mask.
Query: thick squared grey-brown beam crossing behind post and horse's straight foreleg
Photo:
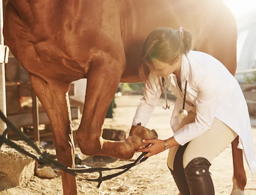
[[[78,119],[80,115],[80,110],[78,106],[71,106],[71,119]],[[42,111],[42,107],[40,109],[39,107],[39,124],[50,124],[49,118],[46,114],[46,112],[40,112]],[[32,108],[28,109],[32,110]],[[20,127],[26,127],[26,126],[33,126],[33,116],[32,112],[31,113],[17,113],[14,115],[7,115],[7,118],[11,121],[11,123],[14,124],[17,128]]]

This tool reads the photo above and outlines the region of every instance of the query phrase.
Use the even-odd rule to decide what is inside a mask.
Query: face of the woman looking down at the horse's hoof
[[[170,74],[172,74],[174,71],[180,69],[181,64],[181,58],[178,57],[177,60],[175,60],[174,64],[168,64],[161,61],[158,61],[156,58],[153,59],[153,66],[156,69],[156,72],[161,77],[166,77]]]

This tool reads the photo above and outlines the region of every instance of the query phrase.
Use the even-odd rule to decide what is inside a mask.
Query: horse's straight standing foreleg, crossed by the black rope
[[[54,134],[57,159],[74,168],[74,142],[71,129],[71,113],[68,100],[69,84],[51,83],[30,74],[30,82],[36,96],[49,117]],[[76,178],[61,171],[64,195],[77,195]]]

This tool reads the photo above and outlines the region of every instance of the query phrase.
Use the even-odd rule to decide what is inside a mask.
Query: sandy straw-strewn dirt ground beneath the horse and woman
[[[141,96],[122,96],[116,98],[117,108],[114,109],[114,119],[106,119],[104,128],[122,129],[130,131],[133,115],[136,111]],[[160,139],[172,136],[169,120],[174,106],[173,101],[169,101],[171,109],[163,110],[161,107],[165,105],[164,100],[160,99],[158,107],[156,107],[147,127],[155,129]],[[78,122],[79,123],[79,122]],[[77,124],[78,125],[78,124]],[[76,126],[75,126],[76,128]],[[253,128],[254,146],[256,148],[256,129]],[[217,144],[217,140],[216,140]],[[49,150],[54,153],[54,150]],[[79,148],[76,152],[81,154]],[[131,160],[119,160],[108,157],[86,157],[81,154],[82,164],[90,167],[117,167],[131,163],[140,154],[135,154]],[[137,165],[123,175],[104,181],[100,189],[97,189],[96,182],[87,182],[77,178],[77,187],[79,195],[177,195],[179,192],[175,186],[174,179],[166,165],[168,151],[164,151],[158,155],[150,157],[142,164]],[[245,161],[244,161],[245,162]],[[246,195],[256,194],[256,177],[252,176],[250,170],[245,164],[247,173]],[[59,171],[55,171],[57,176],[53,179],[40,179],[34,177],[31,181],[22,187],[14,187],[0,192],[0,195],[62,195],[62,181]],[[103,173],[103,176],[109,173]],[[229,145],[223,153],[212,161],[210,167],[212,179],[216,194],[230,194],[232,190],[232,153],[231,145]],[[98,173],[83,175],[87,178],[97,178]]]

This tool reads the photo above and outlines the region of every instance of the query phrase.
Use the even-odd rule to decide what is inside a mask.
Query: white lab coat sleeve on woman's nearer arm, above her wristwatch
[[[193,85],[199,91],[195,121],[174,133],[175,140],[182,146],[211,128],[218,107],[219,87],[213,75],[197,74],[193,79]]]

